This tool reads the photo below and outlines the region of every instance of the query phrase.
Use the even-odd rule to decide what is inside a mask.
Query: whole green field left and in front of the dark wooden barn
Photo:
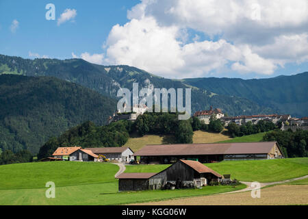
[[[121,205],[170,198],[205,196],[245,188],[207,186],[194,190],[118,192],[118,166],[94,162],[42,162],[0,166],[0,205]],[[46,198],[47,181],[55,198]]]

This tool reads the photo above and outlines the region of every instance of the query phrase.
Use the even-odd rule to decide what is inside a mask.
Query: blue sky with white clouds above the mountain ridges
[[[308,70],[308,1],[0,0],[0,54],[172,79],[294,75]]]

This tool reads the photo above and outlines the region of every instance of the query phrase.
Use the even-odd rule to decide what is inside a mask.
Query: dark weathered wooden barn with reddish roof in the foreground
[[[158,173],[131,172],[116,177],[119,191],[159,190],[162,188],[194,188],[207,185],[222,176],[200,162],[180,159]]]

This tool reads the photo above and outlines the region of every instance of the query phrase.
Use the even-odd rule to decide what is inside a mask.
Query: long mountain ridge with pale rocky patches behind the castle
[[[249,99],[216,94],[211,90],[157,77],[131,66],[101,66],[81,59],[23,59],[0,55],[0,74],[52,76],[78,83],[107,96],[116,97],[119,88],[131,90],[133,82],[145,88],[192,88],[192,112],[218,107],[229,115],[273,113],[277,109],[261,106]]]

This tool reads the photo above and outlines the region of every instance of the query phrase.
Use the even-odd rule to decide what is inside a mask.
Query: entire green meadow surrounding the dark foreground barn
[[[241,181],[270,182],[308,174],[308,158],[206,164]],[[131,165],[126,172],[159,172],[169,165]],[[118,192],[118,166],[94,162],[38,162],[0,166],[0,205],[123,205],[170,198],[231,192],[246,185],[206,186],[189,190]],[[55,198],[46,198],[45,184],[55,183]],[[307,179],[292,183],[307,184]]]

